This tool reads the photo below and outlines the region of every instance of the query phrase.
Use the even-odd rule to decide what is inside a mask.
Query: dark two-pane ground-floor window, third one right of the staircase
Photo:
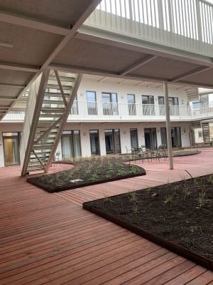
[[[121,153],[119,129],[104,130],[107,154]]]

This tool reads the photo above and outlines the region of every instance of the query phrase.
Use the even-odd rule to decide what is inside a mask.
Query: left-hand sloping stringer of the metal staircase
[[[33,112],[33,120],[32,120],[32,124],[31,124],[31,129],[30,129],[30,133],[28,136],[28,144],[25,150],[25,157],[23,160],[23,165],[22,165],[22,169],[21,169],[21,175],[24,176],[26,175],[27,172],[27,167],[28,167],[28,163],[30,160],[30,156],[31,156],[31,150],[33,147],[33,142],[34,142],[34,138],[35,138],[35,130],[36,127],[38,125],[38,119],[40,116],[40,109],[43,103],[43,97],[45,95],[45,86],[48,82],[48,77],[50,74],[50,70],[45,70],[43,71],[43,73],[41,74],[41,78],[40,78],[40,85],[39,85],[39,89],[38,89],[38,95],[36,98],[36,103],[35,103],[35,110],[31,110],[31,112]],[[33,95],[33,94],[31,94]],[[29,108],[30,106],[28,106]],[[28,110],[28,112],[30,112],[30,110]],[[26,120],[27,118],[25,118]],[[24,130],[23,130],[24,132]],[[23,134],[24,135],[24,134]]]

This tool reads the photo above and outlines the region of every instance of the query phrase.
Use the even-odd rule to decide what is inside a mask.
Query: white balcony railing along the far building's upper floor
[[[170,105],[171,120],[192,120],[213,117],[212,105],[202,105],[192,110],[189,105]],[[23,111],[10,111],[3,121],[23,121]],[[165,120],[165,105],[103,103],[74,101],[68,120]]]

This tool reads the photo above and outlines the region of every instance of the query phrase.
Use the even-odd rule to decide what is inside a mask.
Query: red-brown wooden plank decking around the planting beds
[[[0,284],[213,285],[213,272],[82,209],[82,202],[213,169],[213,148],[139,163],[146,176],[49,194],[0,169]],[[67,166],[66,166],[67,167]],[[56,165],[53,171],[62,169]]]

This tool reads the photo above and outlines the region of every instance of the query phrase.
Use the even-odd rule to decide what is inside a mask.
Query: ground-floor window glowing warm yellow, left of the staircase
[[[19,144],[21,133],[3,133],[4,165],[19,165]]]

